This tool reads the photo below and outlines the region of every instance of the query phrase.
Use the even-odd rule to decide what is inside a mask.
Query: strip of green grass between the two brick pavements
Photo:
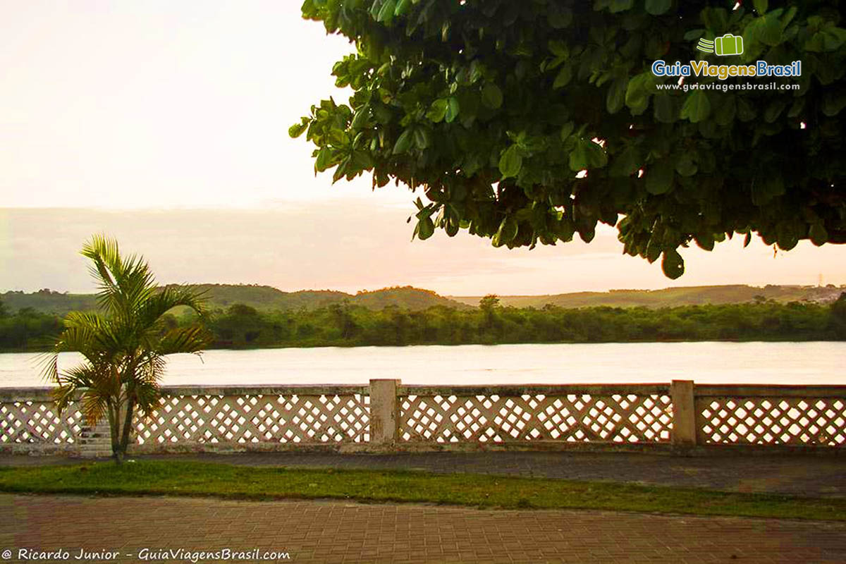
[[[607,509],[846,521],[846,500],[770,494],[395,470],[244,467],[139,461],[0,468],[0,491],[102,495],[213,496],[273,500],[329,498],[485,508]]]

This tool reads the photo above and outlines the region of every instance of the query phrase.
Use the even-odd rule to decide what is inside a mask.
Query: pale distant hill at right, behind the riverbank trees
[[[832,302],[846,287],[817,286],[687,286],[662,290],[611,290],[609,292],[558,293],[546,296],[499,296],[500,304],[517,308],[542,308],[552,304],[562,308],[610,306],[630,308],[668,308],[679,305],[742,304],[756,299],[777,302]],[[448,296],[463,304],[478,305],[481,296]]]

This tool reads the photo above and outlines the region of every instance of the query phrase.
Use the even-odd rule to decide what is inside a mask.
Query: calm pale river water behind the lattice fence
[[[59,368],[79,362],[63,353]],[[846,342],[649,342],[266,348],[170,357],[164,384],[846,384]],[[0,386],[44,386],[33,353],[0,354]]]

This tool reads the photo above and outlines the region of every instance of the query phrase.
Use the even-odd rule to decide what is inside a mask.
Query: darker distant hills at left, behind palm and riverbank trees
[[[329,304],[338,304],[344,300],[368,309],[384,309],[388,306],[396,306],[400,309],[417,311],[435,305],[458,309],[468,307],[465,304],[459,304],[459,302],[439,296],[430,290],[421,290],[410,286],[389,287],[373,292],[360,292],[355,295],[334,290],[283,292],[270,286],[240,284],[199,284],[196,287],[201,292],[206,293],[208,306],[211,309],[227,309],[233,304],[246,304],[260,310],[317,309]],[[96,309],[94,294],[59,293],[47,289],[33,293],[2,293],[0,300],[11,311],[32,308],[44,313],[64,315],[74,310]]]

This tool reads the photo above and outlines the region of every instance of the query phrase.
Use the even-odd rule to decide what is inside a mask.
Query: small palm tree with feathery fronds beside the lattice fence
[[[162,319],[179,305],[203,313],[200,294],[188,287],[159,288],[143,257],[121,257],[118,243],[102,235],[82,249],[97,279],[101,314],[71,312],[64,330],[47,353],[44,374],[58,386],[54,399],[61,412],[79,397],[88,424],[107,417],[115,461],[126,456],[135,412],[148,415],[159,406],[159,381],[165,357],[201,354],[209,338],[200,326],[168,329]],[[85,357],[70,370],[58,370],[58,353]]]

